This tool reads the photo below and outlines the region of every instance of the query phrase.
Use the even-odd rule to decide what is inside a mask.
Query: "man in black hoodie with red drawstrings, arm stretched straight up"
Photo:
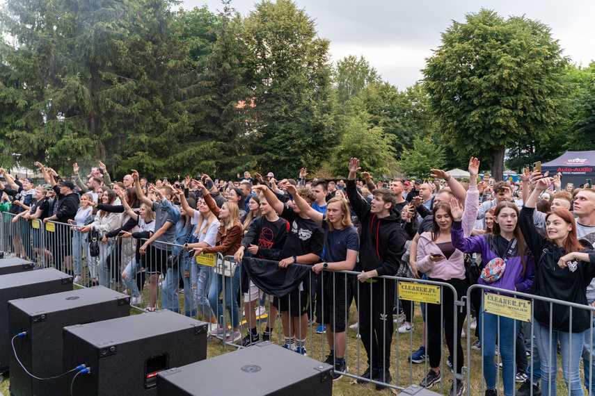
[[[358,158],[349,161],[347,196],[361,222],[360,260],[356,265],[359,283],[358,322],[361,340],[370,367],[362,377],[390,383],[390,343],[392,342],[392,306],[395,302],[395,281],[378,279],[395,275],[401,256],[405,253],[405,234],[400,220],[392,213],[397,201],[388,188],[374,190],[374,199],[368,204],[356,189]],[[370,312],[372,308],[372,312]],[[364,380],[358,380],[363,383]],[[376,385],[376,390],[386,386]]]

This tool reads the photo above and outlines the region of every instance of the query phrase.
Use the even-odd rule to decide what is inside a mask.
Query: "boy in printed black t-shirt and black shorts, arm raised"
[[[280,251],[278,256],[273,255],[270,259],[280,260],[280,268],[287,268],[288,265],[293,263],[308,265],[317,263],[324,247],[324,233],[321,226],[302,213],[293,200],[290,201],[292,206],[288,206],[279,201],[267,186],[256,185],[255,188],[261,190],[271,207],[289,222],[289,234],[283,250]],[[309,188],[299,188],[297,192],[310,205],[316,199],[314,192]],[[308,329],[308,292],[303,290],[303,283],[298,290],[276,299],[276,302],[281,312],[285,347],[293,349],[295,340],[296,352],[306,355],[304,345],[306,344]]]

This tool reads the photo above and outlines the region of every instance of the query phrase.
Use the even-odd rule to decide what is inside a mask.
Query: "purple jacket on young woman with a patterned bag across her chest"
[[[493,238],[491,234],[484,234],[479,236],[472,236],[465,238],[463,236],[463,228],[461,222],[453,222],[452,230],[450,231],[452,238],[452,245],[465,253],[481,253],[482,265],[486,265],[493,258],[500,257],[500,255],[493,251]],[[525,247],[525,273],[523,274],[523,263],[521,263],[521,256],[518,256],[518,249],[512,256],[508,258],[506,263],[506,270],[502,278],[492,283],[484,282],[481,277],[477,280],[479,285],[492,286],[494,288],[501,288],[507,290],[514,290],[518,292],[527,292],[533,283],[533,278],[537,272],[535,262],[531,254],[527,254],[529,249]],[[486,290],[489,291],[489,290]]]

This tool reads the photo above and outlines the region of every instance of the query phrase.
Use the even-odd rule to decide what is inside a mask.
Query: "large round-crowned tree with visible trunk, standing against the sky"
[[[443,140],[502,179],[505,149],[555,130],[566,113],[566,59],[548,26],[491,10],[466,15],[427,59],[425,87]]]

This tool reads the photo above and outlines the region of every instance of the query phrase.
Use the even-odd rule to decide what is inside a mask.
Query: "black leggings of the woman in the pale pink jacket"
[[[454,290],[457,291],[457,299],[461,299],[465,297],[467,293],[467,283],[465,279],[450,279],[449,281],[444,281],[443,279],[429,279],[430,281],[438,281],[438,282],[445,282],[449,283],[454,287]],[[454,346],[452,344],[452,338],[454,334],[453,331],[453,324],[454,324],[454,296],[452,295],[452,290],[443,286],[442,288],[442,307],[443,309],[443,320],[444,324],[441,323],[441,305],[439,304],[426,304],[426,325],[427,325],[427,337],[428,337],[428,347],[427,351],[429,354],[429,363],[430,367],[438,368],[440,367],[440,356],[442,351],[442,332],[444,329],[445,337],[446,337],[446,345],[448,347],[448,352],[450,352],[450,356],[452,356],[452,361],[454,362]],[[459,307],[457,306],[457,340],[456,340],[456,347],[457,347],[457,373],[461,373],[461,369],[463,368],[463,347],[461,346],[461,330],[463,329],[463,321],[467,315],[467,310],[465,306]]]

